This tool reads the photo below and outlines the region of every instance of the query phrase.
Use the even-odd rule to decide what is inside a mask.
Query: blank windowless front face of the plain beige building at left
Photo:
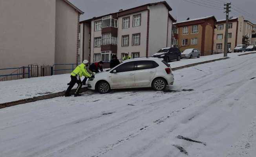
[[[0,69],[54,64],[55,0],[0,0],[0,20]]]

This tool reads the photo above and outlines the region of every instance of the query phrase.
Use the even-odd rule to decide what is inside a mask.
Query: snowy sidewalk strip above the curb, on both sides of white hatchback
[[[245,52],[251,53],[251,52]],[[244,53],[229,53],[228,57],[234,58]],[[181,61],[170,62],[172,68],[224,58],[223,54],[202,56],[200,58],[182,59]],[[66,90],[70,81],[70,74],[53,75],[48,77],[37,77],[0,82],[0,104],[21,99],[28,99],[49,93],[56,93]],[[75,86],[76,87],[76,86]]]

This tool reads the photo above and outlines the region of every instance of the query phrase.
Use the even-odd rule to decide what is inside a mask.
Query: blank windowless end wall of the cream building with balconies
[[[149,48],[148,56],[152,56],[159,49],[166,47],[168,9],[164,4],[152,5],[149,20]]]

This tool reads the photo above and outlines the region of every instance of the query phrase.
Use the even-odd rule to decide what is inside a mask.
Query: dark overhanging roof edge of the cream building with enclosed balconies
[[[133,8],[126,9],[126,10],[122,10],[122,11],[119,11],[119,12],[110,13],[110,14],[107,14],[107,15],[102,15],[102,16],[98,16],[98,17],[93,17],[93,18],[90,18],[90,19],[87,19],[87,20],[80,21],[80,23],[88,22],[88,21],[93,20],[93,19],[96,19],[96,18],[102,18],[102,17],[104,17],[104,16],[109,16],[109,15],[113,15],[113,14],[117,14],[117,13],[122,13],[122,12],[124,12],[124,11],[130,11],[130,10],[137,9],[137,8],[140,8],[140,7],[151,6],[151,5],[157,5],[157,4],[164,4],[164,5],[166,6],[166,8],[168,9],[168,11],[172,11],[172,8],[170,7],[170,5],[169,5],[166,1],[161,1],[161,2],[156,2],[156,3],[148,3],[148,4],[140,5],[140,6],[133,7]],[[170,17],[172,20],[176,21],[170,14],[169,14],[169,17]]]

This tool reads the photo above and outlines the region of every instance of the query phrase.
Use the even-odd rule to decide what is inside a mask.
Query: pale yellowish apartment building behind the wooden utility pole
[[[218,20],[214,30],[214,51],[223,53],[225,44],[226,20]],[[228,24],[228,49],[233,50],[236,45],[242,44],[244,34],[243,16],[234,17],[229,20]]]

